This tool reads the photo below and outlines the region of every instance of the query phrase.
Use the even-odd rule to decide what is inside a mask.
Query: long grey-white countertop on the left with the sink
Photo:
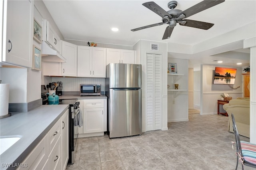
[[[11,117],[0,119],[0,138],[21,137],[0,155],[0,169],[8,168],[2,167],[3,164],[21,163],[66,109],[68,105],[42,105],[28,112],[12,112]],[[8,170],[16,168],[9,167]]]

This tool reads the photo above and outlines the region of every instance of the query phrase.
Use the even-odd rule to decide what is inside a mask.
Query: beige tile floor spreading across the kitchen
[[[189,121],[168,123],[168,130],[109,139],[79,138],[75,162],[66,170],[232,170],[234,134],[228,117],[189,114]],[[249,138],[241,136],[241,140]],[[244,166],[245,170],[251,170]],[[242,169],[239,164],[238,169]]]

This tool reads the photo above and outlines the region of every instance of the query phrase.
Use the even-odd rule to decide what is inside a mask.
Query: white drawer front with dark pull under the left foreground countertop
[[[49,144],[49,153],[52,152],[54,145],[56,144],[58,138],[60,137],[60,119],[48,132],[48,144]]]

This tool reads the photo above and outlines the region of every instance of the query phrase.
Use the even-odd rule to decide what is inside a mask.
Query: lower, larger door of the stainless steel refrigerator
[[[141,89],[110,89],[108,106],[110,138],[142,134]]]

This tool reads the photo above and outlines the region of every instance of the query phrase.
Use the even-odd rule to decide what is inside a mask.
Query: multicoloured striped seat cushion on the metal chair
[[[244,160],[256,165],[256,144],[241,141],[241,148]]]

